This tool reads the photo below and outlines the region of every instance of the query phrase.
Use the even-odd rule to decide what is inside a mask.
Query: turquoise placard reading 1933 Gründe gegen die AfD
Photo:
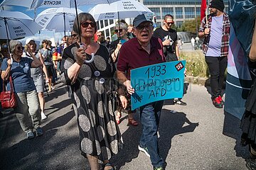
[[[186,61],[163,62],[131,70],[132,110],[147,103],[183,96]]]

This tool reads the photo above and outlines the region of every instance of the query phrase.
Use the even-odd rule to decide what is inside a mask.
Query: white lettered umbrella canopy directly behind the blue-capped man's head
[[[98,4],[90,12],[95,20],[134,18],[139,14],[153,16],[154,13],[144,4],[134,0],[121,0],[112,4]]]

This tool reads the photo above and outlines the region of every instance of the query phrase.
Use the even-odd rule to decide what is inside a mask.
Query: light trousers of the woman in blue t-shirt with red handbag
[[[16,117],[24,132],[37,129],[41,125],[41,114],[36,90],[15,94]],[[31,119],[32,118],[32,119]]]

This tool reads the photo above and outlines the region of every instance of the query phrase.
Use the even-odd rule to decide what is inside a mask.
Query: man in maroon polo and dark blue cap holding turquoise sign
[[[166,62],[161,40],[152,37],[153,22],[142,14],[134,18],[133,25],[136,38],[122,45],[117,61],[117,79],[126,86],[129,94],[134,94],[130,81],[131,69]],[[159,155],[157,137],[163,103],[164,101],[156,101],[140,107],[143,131],[139,150],[150,157],[154,169],[164,169],[165,166]]]

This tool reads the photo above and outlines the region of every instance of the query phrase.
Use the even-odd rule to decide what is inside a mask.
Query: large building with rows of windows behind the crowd
[[[223,1],[227,12],[228,0]],[[180,28],[184,21],[195,19],[201,13],[201,0],[139,0],[139,2],[154,12],[157,28],[163,24],[162,21],[166,14],[174,16],[175,25]],[[132,18],[126,18],[125,21],[131,24]],[[115,22],[116,20],[97,21],[97,28],[105,33],[105,38],[108,36],[111,38]]]

